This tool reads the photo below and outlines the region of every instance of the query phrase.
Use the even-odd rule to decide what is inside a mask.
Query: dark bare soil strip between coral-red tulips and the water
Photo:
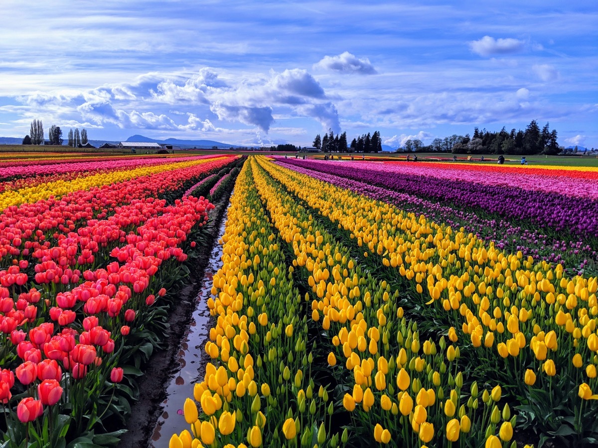
[[[196,297],[204,280],[204,272],[208,266],[210,253],[218,237],[222,217],[228,207],[229,195],[224,195],[216,203],[216,208],[211,214],[213,220],[208,226],[207,244],[201,248],[198,253],[197,264],[191,269],[190,281],[181,291],[180,299],[176,306],[170,310],[168,323],[169,329],[164,337],[166,348],[155,351],[147,363],[144,376],[139,381],[139,401],[132,406],[132,413],[127,421],[125,429],[127,432],[121,436],[118,448],[142,448],[149,447],[152,443],[152,437],[157,428],[158,419],[163,415],[163,403],[167,400],[167,388],[172,382],[173,376],[181,367],[178,358],[181,350],[188,348],[182,346],[184,338],[189,332],[193,321],[193,312],[196,310]],[[201,351],[199,355],[198,375],[202,375],[201,370],[205,369],[208,355]],[[181,407],[183,402],[181,401]],[[166,416],[167,417],[167,416]],[[158,428],[159,429],[159,428]],[[159,436],[159,432],[158,432]],[[170,434],[162,437],[166,446],[170,439]]]

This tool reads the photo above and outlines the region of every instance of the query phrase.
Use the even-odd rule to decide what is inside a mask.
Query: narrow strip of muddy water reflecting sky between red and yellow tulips
[[[152,448],[168,448],[172,434],[175,434],[175,432],[179,434],[183,429],[190,429],[187,422],[185,422],[182,407],[185,398],[193,399],[193,386],[205,372],[205,366],[201,365],[201,358],[210,330],[208,299],[212,290],[213,275],[222,267],[222,260],[220,259],[222,246],[218,244],[218,241],[224,235],[227,211],[225,210],[224,216],[222,216],[216,244],[212,249],[212,253],[210,253],[202,287],[195,299],[196,310],[193,312],[193,319],[177,354],[176,372],[166,389],[167,398],[162,403],[163,413],[158,418],[150,443]]]

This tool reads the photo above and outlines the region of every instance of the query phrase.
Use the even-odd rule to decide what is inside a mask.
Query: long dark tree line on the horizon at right
[[[556,129],[551,130],[550,124],[542,129],[536,120],[532,120],[524,130],[512,129],[510,132],[503,126],[498,132],[486,129],[480,131],[474,128],[472,136],[457,136],[453,134],[444,139],[434,139],[430,145],[423,145],[422,140],[407,140],[398,151],[404,152],[452,152],[453,154],[517,154],[556,155],[563,151],[557,142]]]

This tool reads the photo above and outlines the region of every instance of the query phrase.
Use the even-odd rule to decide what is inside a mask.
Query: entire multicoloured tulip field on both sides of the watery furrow
[[[598,168],[26,153],[0,447],[118,444],[233,185],[170,448],[598,445]]]

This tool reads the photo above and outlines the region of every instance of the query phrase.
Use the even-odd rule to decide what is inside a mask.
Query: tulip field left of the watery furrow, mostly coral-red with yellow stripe
[[[118,443],[238,162],[2,155],[0,446]]]

